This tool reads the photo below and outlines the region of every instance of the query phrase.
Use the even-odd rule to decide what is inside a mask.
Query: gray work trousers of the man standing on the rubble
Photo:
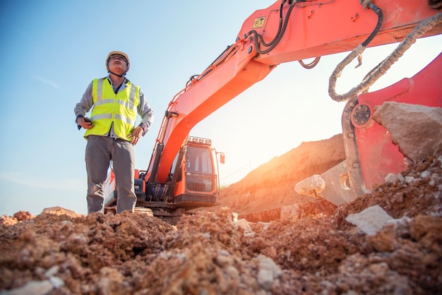
[[[113,162],[117,186],[117,213],[131,210],[136,204],[133,191],[135,159],[129,141],[110,136],[89,136],[86,145],[86,171],[88,171],[88,213],[104,212],[104,182],[110,161]]]

